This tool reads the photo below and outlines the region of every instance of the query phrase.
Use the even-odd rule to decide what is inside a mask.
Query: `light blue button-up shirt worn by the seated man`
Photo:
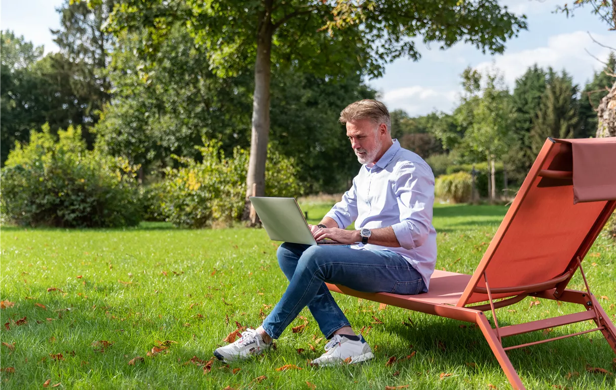
[[[345,229],[391,226],[399,248],[352,245],[358,250],[389,250],[400,254],[421,274],[426,290],[436,266],[436,230],[432,226],[434,174],[416,153],[397,140],[375,164],[363,165],[350,190],[326,214]]]

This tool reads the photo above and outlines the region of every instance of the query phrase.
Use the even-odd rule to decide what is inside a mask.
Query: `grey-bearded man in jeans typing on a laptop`
[[[389,111],[383,103],[355,102],[342,110],[340,122],[346,124],[362,168],[342,200],[310,230],[317,241],[331,238],[349,246],[283,243],[277,256],[289,286],[282,299],[259,328],[248,329],[235,343],[216,349],[217,358],[229,361],[261,354],[308,306],[330,339],[325,354],[312,363],[363,362],[373,357],[370,346],[352,330],[325,282],[370,293],[428,291],[436,264],[432,170],[392,140]],[[352,221],[355,230],[345,230]]]

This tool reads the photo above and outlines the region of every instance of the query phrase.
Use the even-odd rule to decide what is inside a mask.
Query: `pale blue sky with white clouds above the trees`
[[[58,29],[60,16],[55,11],[62,0],[0,0],[0,30],[13,30],[45,52],[57,51],[50,29]],[[573,17],[554,13],[567,0],[502,0],[516,14],[527,16],[528,30],[506,43],[505,53],[484,55],[468,44],[456,44],[441,51],[437,45],[418,44],[421,59],[395,60],[385,67],[383,77],[368,81],[379,91],[379,99],[390,110],[402,109],[409,115],[424,115],[437,110],[452,112],[459,101],[460,75],[464,68],[481,71],[496,68],[513,90],[514,81],[537,63],[540,67],[566,70],[573,81],[583,86],[594,72],[600,71],[609,49],[593,43],[616,46],[616,31],[591,14],[579,9]],[[572,1],[569,1],[572,2]],[[590,52],[592,55],[588,54]],[[593,58],[596,57],[597,59]]]

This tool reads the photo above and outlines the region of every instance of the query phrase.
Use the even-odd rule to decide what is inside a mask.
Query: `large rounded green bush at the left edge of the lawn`
[[[141,210],[135,166],[89,151],[80,128],[31,132],[0,169],[0,201],[9,222],[24,226],[136,225]]]

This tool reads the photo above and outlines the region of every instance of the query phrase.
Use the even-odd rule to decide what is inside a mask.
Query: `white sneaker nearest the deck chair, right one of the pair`
[[[354,364],[372,359],[375,355],[362,335],[355,341],[346,336],[334,335],[325,345],[325,354],[312,360],[311,364],[320,366]]]

